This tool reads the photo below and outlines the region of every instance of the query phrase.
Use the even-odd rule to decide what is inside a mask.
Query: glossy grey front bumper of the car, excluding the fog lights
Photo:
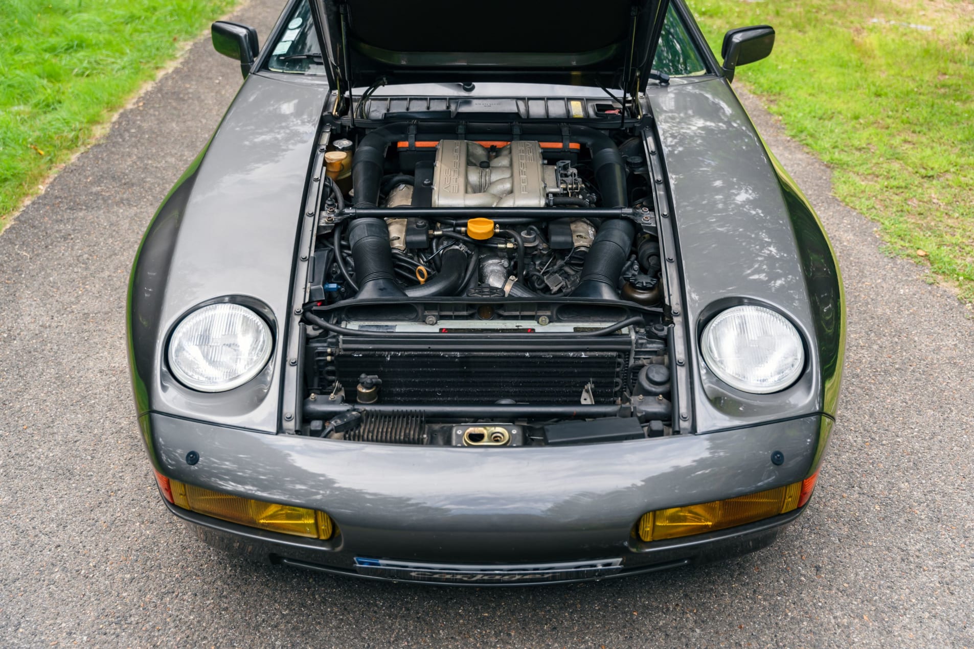
[[[146,415],[140,424],[157,469],[169,478],[318,509],[340,530],[328,541],[303,539],[170,506],[201,525],[209,543],[370,578],[512,585],[618,577],[767,546],[802,509],[672,541],[644,543],[632,529],[647,511],[803,480],[820,417],[707,435],[518,449],[357,444],[165,415]],[[199,455],[195,464],[186,461],[190,451]],[[780,465],[771,461],[774,451],[784,455]]]

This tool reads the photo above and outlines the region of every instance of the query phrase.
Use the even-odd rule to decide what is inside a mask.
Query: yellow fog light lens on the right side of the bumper
[[[801,495],[802,483],[795,483],[727,500],[660,509],[644,514],[637,531],[644,541],[659,541],[754,523],[792,511]]]

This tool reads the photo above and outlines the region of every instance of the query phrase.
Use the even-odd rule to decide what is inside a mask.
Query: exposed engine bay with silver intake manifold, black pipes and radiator
[[[336,135],[302,314],[302,434],[517,447],[674,433],[642,137],[466,123]]]

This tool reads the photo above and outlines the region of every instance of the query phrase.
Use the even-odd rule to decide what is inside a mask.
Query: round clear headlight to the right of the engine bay
[[[798,330],[763,306],[733,306],[718,314],[703,329],[700,350],[718,378],[756,394],[788,387],[805,366]]]

